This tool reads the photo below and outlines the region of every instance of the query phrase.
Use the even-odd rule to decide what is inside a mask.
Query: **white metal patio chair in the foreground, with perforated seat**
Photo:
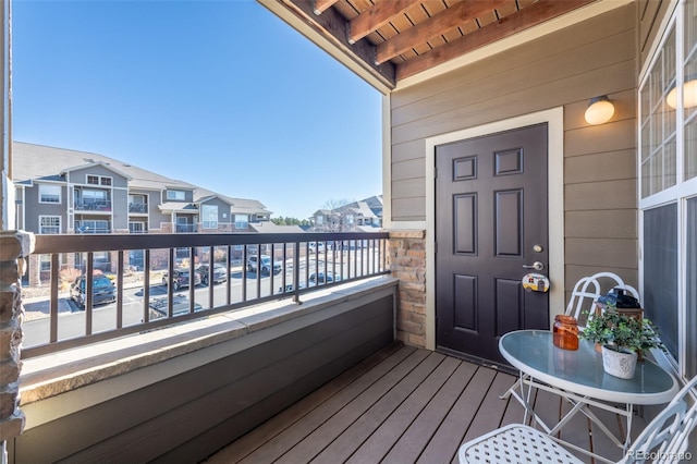
[[[677,463],[687,457],[690,431],[697,425],[697,376],[651,420],[628,448],[621,464],[635,462]],[[588,453],[573,444],[571,449]],[[522,424],[511,424],[460,447],[465,463],[582,463],[560,440]]]

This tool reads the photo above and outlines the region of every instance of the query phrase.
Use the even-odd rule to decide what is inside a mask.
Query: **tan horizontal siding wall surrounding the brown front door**
[[[565,286],[600,270],[636,285],[636,21],[632,3],[394,91],[393,227],[426,220],[426,138],[563,107]],[[615,114],[589,126],[588,100],[606,94]]]

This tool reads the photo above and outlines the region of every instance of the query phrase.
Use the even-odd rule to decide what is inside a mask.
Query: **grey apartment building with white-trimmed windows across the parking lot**
[[[271,211],[258,200],[232,198],[103,155],[14,142],[12,178],[16,224],[37,234],[256,232]],[[29,262],[30,283],[47,272],[47,258]],[[81,267],[84,257],[63,257]],[[139,267],[142,251],[126,257]],[[95,256],[114,270],[108,254]]]

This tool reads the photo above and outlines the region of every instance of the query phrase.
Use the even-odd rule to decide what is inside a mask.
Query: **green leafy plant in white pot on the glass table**
[[[637,352],[655,347],[665,350],[649,319],[617,312],[614,305],[589,317],[578,337],[600,344],[606,373],[622,379],[634,377]]]

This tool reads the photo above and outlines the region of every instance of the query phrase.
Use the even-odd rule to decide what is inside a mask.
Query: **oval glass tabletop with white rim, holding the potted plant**
[[[578,341],[578,350],[554,346],[549,330],[518,330],[499,340],[503,357],[538,381],[577,394],[626,404],[668,403],[677,393],[675,378],[650,359],[638,362],[634,378],[607,374],[594,344]]]

